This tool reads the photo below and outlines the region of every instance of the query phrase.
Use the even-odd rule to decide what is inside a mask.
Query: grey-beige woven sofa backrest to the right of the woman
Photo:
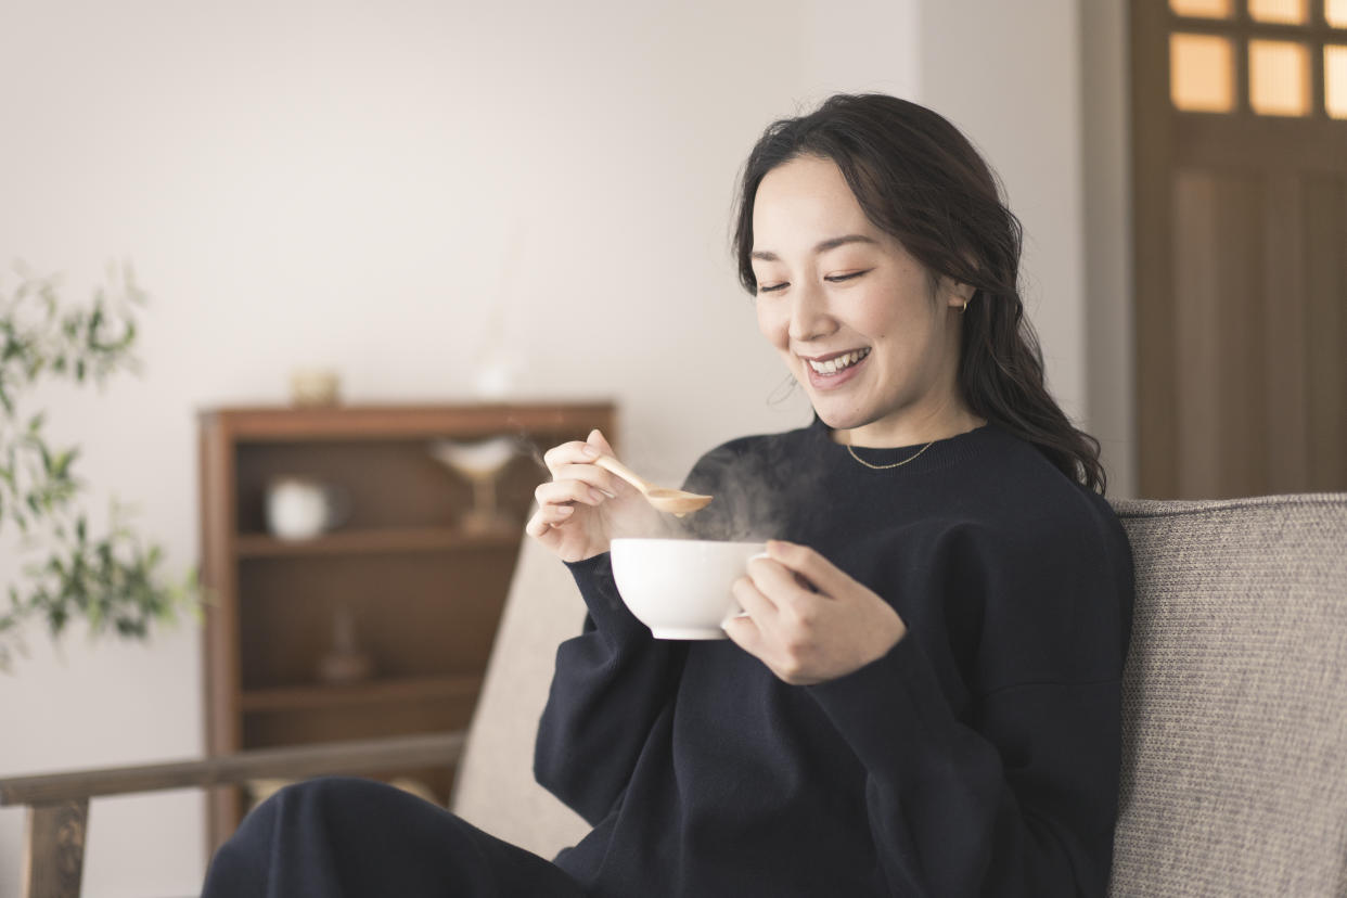
[[[1122,501],[1113,895],[1347,895],[1347,494]]]

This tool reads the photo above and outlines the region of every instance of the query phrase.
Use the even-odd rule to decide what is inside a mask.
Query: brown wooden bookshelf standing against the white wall
[[[467,726],[519,555],[543,452],[613,432],[612,404],[216,408],[201,412],[206,746],[213,755]],[[497,483],[515,525],[461,526],[470,483],[430,454],[436,439],[516,438]],[[338,485],[342,526],[307,540],[268,533],[277,477]],[[321,681],[341,607],[374,670]],[[453,769],[411,775],[447,802]],[[245,789],[209,798],[211,851],[238,825]]]

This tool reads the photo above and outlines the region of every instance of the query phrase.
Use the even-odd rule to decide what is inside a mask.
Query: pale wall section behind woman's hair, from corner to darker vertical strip
[[[1076,0],[939,0],[921,9],[923,100],[1001,176],[1024,223],[1021,292],[1048,386],[1086,415]]]

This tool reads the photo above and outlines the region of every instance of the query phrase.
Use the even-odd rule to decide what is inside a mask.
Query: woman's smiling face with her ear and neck
[[[753,205],[762,335],[828,427],[857,446],[911,446],[975,424],[956,388],[959,307],[876,228],[830,159],[797,156]]]

